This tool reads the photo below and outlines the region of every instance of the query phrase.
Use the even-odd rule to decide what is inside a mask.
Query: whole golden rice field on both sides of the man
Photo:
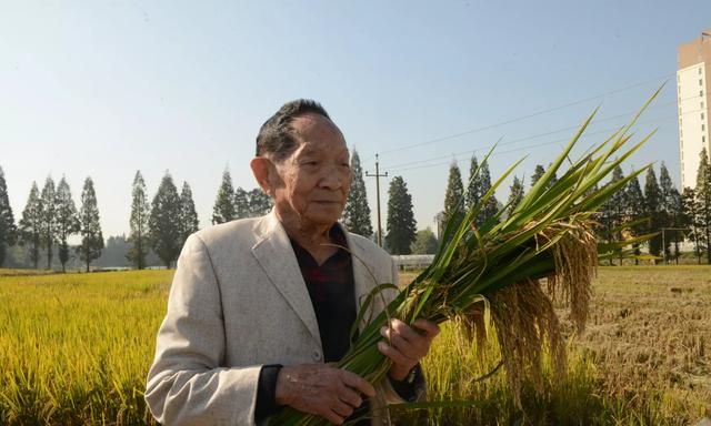
[[[0,271],[0,424],[146,425],[143,385],[172,272]],[[403,276],[403,281],[411,276]],[[603,267],[568,378],[513,404],[500,355],[445,327],[423,363],[440,408],[399,425],[690,425],[711,407],[711,267]],[[562,306],[561,306],[562,308]],[[561,311],[564,313],[564,311]],[[563,314],[564,315],[564,314]],[[449,405],[449,406],[445,406]]]

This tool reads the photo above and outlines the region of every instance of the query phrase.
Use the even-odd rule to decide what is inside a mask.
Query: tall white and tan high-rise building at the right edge
[[[711,154],[709,141],[709,103],[711,93],[711,30],[679,47],[677,100],[679,105],[679,150],[682,189],[697,185],[699,153]]]

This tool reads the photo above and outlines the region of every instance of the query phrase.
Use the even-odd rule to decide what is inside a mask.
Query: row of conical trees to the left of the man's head
[[[261,215],[270,209],[271,199],[261,190],[233,190],[230,173],[224,171],[212,223]],[[170,267],[188,236],[199,230],[190,184],[183,182],[178,192],[167,171],[156,195],[149,202],[146,182],[141,172],[137,171],[132,183],[129,224],[126,258],[130,265],[142,270],[148,265],[149,254],[154,254],[163,265]],[[69,244],[72,235],[80,237],[80,243],[73,247]],[[84,180],[79,209],[64,176],[57,185],[51,176],[47,178],[42,191],[37,182],[32,182],[21,219],[16,224],[4,172],[0,168],[0,267],[4,264],[8,248],[14,245],[28,251],[34,268],[40,267],[43,253],[47,256],[47,268],[52,268],[53,255],[58,253],[62,272],[72,255],[89,271],[91,263],[99,258],[104,248],[97,193],[91,178]]]

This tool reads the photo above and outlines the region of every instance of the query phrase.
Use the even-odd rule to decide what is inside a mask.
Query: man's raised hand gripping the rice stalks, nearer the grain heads
[[[412,327],[395,318],[390,321],[390,327],[382,327],[380,334],[388,341],[378,343],[378,349],[392,361],[390,377],[403,381],[430,351],[432,339],[439,333],[437,324],[422,318],[415,320]]]

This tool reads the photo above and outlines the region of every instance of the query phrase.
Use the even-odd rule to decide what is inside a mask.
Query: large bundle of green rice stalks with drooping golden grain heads
[[[614,183],[602,186],[601,183],[651,138],[650,134],[641,142],[632,143],[629,131],[659,91],[661,88],[630,124],[577,161],[570,161],[571,151],[595,115],[595,110],[508,217],[504,217],[508,210],[504,206],[481,226],[474,222],[489,197],[518,163],[492,185],[478,204],[464,209],[460,202],[461,214],[452,217],[462,219],[452,219],[447,224],[433,263],[361,331],[339,367],[378,383],[390,368],[390,362],[377,348],[381,339],[380,328],[388,324],[390,317],[409,324],[419,317],[437,323],[467,321],[472,317],[471,310],[483,303],[487,306],[484,315],[490,312],[497,331],[503,366],[517,405],[521,405],[520,389],[524,377],[531,378],[535,388],[542,392],[544,348],[551,356],[553,371],[562,377],[565,369],[564,339],[549,296],[558,293],[568,301],[571,316],[578,329],[582,331],[600,248],[593,233],[594,214],[614,192],[645,168]],[[563,172],[562,166],[567,162],[570,164]],[[554,175],[561,178],[554,181]],[[602,251],[611,248],[618,247],[605,246]],[[388,285],[380,284],[374,292],[384,288]],[[358,323],[367,311],[368,306],[361,308]],[[326,420],[287,408],[272,418],[272,424],[322,425]]]

